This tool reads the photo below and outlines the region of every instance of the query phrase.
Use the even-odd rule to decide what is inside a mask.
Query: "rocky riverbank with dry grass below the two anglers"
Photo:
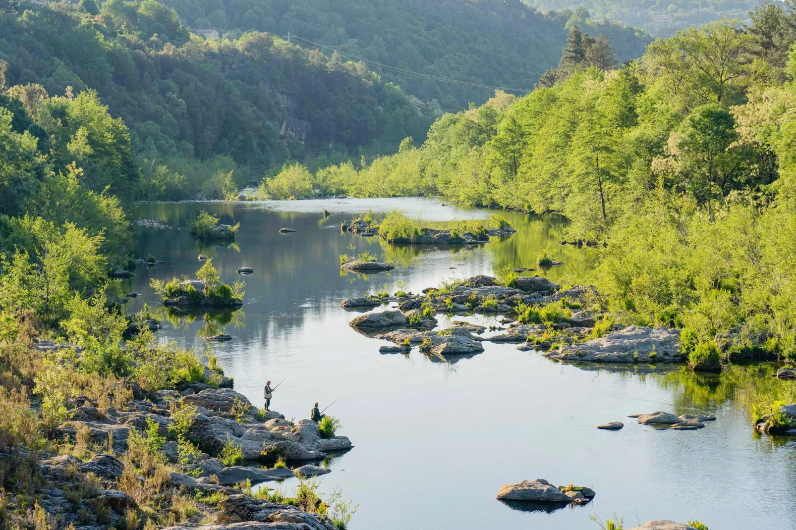
[[[349,450],[349,438],[259,410],[231,380],[204,369],[213,384],[148,393],[121,381],[112,405],[70,399],[49,451],[0,453],[0,466],[31,466],[31,509],[46,528],[335,530],[311,485],[297,497],[250,485],[328,473],[312,462]]]

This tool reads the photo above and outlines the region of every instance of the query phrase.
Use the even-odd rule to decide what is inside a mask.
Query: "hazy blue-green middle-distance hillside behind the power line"
[[[571,13],[540,14],[519,0],[164,0],[193,28],[240,34],[256,29],[297,35],[310,49],[338,49],[426,76],[529,90],[554,66],[567,37]],[[639,57],[650,41],[638,30],[589,21],[591,37],[606,33],[618,60]],[[385,80],[420,99],[437,99],[454,111],[470,101],[483,103],[488,88],[451,84],[392,68],[373,68]],[[518,92],[521,93],[521,92]]]

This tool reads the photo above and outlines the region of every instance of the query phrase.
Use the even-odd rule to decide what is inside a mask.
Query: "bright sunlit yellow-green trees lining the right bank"
[[[446,114],[423,146],[360,170],[291,166],[263,190],[558,213],[570,240],[606,243],[591,281],[627,323],[700,340],[740,325],[793,358],[794,15],[767,4],[748,26],[687,29],[608,71],[573,29],[553,86]]]

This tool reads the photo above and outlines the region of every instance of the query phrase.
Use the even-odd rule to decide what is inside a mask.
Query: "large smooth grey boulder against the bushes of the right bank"
[[[674,362],[682,360],[680,329],[629,325],[605,337],[544,353],[558,360],[590,360],[614,363]]]

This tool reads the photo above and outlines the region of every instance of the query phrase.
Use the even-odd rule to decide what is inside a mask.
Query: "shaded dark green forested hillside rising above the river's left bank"
[[[240,184],[291,158],[390,152],[407,134],[422,138],[438,112],[363,64],[279,37],[204,41],[154,0],[108,0],[101,10],[94,0],[7,3],[0,60],[6,86],[25,94],[29,110],[72,87],[74,94],[96,91],[110,115],[123,119],[131,140],[119,162],[123,174],[103,181],[100,168],[84,168],[91,189],[111,185],[123,198],[188,198],[201,187],[189,182],[194,175],[205,195],[219,196],[237,189],[224,180],[236,167],[232,179]],[[90,128],[75,131],[87,142],[81,153],[96,149]],[[208,163],[197,166],[194,157]],[[142,186],[132,183],[134,158],[145,168]]]

